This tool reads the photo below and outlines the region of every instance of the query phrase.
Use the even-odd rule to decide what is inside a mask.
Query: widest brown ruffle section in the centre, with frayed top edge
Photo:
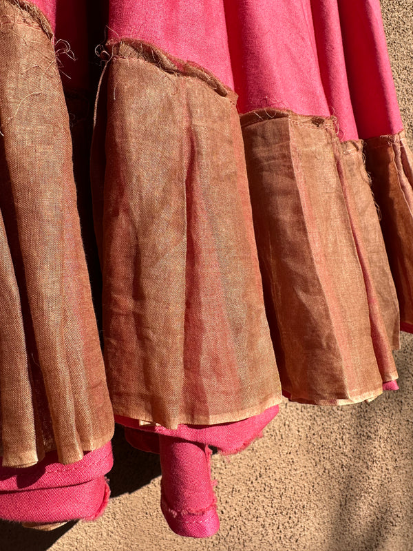
[[[149,45],[112,44],[94,134],[114,412],[176,428],[279,403],[233,92]]]

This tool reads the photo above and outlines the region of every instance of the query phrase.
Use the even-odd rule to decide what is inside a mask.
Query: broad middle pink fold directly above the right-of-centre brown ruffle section
[[[240,112],[277,107],[329,116],[310,0],[224,3]]]

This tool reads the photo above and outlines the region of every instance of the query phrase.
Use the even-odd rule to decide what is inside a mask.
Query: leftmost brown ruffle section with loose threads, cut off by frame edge
[[[0,0],[3,466],[72,463],[114,429],[76,210],[69,117],[47,21]]]

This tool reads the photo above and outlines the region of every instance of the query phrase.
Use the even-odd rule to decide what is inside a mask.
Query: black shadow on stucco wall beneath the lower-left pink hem
[[[160,476],[159,456],[132,448],[123,435],[123,427],[116,425],[112,439],[114,466],[109,472],[111,498],[134,492]],[[72,521],[56,530],[42,532],[23,528],[20,524],[0,521],[1,551],[45,551],[70,530]]]

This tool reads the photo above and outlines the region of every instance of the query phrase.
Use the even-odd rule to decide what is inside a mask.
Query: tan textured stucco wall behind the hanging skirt
[[[413,2],[382,6],[413,145]],[[264,438],[231,459],[213,457],[221,520],[214,537],[184,539],[169,530],[159,508],[158,458],[127,446],[118,430],[103,517],[48,533],[0,523],[0,550],[413,550],[413,335],[402,337],[394,353],[399,392],[355,406],[282,404]]]

